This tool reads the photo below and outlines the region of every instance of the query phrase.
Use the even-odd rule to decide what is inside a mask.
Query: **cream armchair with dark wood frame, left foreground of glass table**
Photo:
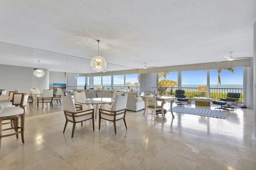
[[[70,95],[62,95],[62,101],[64,106],[64,115],[66,117],[66,123],[65,123],[63,133],[65,132],[68,121],[69,121],[73,123],[72,136],[71,136],[73,138],[75,128],[76,128],[76,123],[81,122],[81,126],[83,126],[83,121],[90,120],[90,119],[92,119],[92,128],[94,131],[94,109],[76,111],[74,101],[72,99],[72,96]]]

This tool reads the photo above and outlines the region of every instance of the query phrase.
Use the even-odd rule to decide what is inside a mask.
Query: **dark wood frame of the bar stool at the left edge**
[[[23,94],[23,95],[28,95],[28,94]],[[23,100],[24,100],[24,97],[22,98],[21,100],[21,104],[23,103]],[[25,106],[22,106],[22,109],[24,110],[23,113],[21,114],[18,114],[18,115],[12,115],[12,116],[5,116],[5,117],[0,117],[0,148],[1,148],[1,139],[3,137],[9,137],[9,136],[12,136],[12,135],[16,135],[16,139],[19,139],[19,136],[18,134],[21,133],[21,139],[22,139],[22,143],[25,143],[25,140],[24,140],[24,121],[25,121]],[[19,117],[20,117],[20,120],[21,120],[21,123],[20,123],[20,127],[18,126],[19,125]],[[4,120],[14,120],[12,122],[7,122],[7,123],[2,123],[2,121]],[[2,129],[2,125],[4,124],[8,124],[8,123],[14,123],[14,127],[10,127],[10,128],[6,128],[6,129]],[[11,130],[11,129],[14,129],[15,130],[15,133],[10,133],[10,134],[7,134],[7,135],[2,135],[2,131],[7,131],[7,130]],[[18,131],[18,129],[20,129],[20,131]]]

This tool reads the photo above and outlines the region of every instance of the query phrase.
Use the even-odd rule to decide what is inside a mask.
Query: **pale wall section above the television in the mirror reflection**
[[[67,83],[67,78],[65,76],[65,72],[49,72],[49,89],[53,89],[54,83]]]

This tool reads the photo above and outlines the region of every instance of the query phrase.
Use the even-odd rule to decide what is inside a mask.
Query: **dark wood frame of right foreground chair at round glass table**
[[[114,123],[115,134],[116,134],[116,121],[123,119],[124,120],[124,125],[125,125],[126,130],[127,130],[126,121],[125,121],[126,110],[127,110],[127,108],[122,109],[122,110],[117,110],[117,111],[110,111],[110,110],[105,110],[105,109],[99,109],[99,130],[100,130],[101,119],[104,119],[104,120],[107,120],[107,121],[112,121]],[[120,111],[122,111],[122,112],[118,113]],[[114,113],[114,114],[110,114],[110,113]],[[101,114],[109,115],[109,116],[114,116],[114,120],[102,118]],[[121,114],[124,114],[124,117],[116,119],[116,116],[117,115],[121,115]]]

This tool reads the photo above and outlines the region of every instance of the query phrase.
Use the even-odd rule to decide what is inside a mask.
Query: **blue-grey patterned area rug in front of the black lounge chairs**
[[[206,109],[199,109],[199,108],[192,108],[192,107],[175,106],[172,108],[172,111],[177,113],[186,113],[190,115],[199,115],[199,116],[225,119],[223,111],[219,111],[219,110],[206,110]]]

